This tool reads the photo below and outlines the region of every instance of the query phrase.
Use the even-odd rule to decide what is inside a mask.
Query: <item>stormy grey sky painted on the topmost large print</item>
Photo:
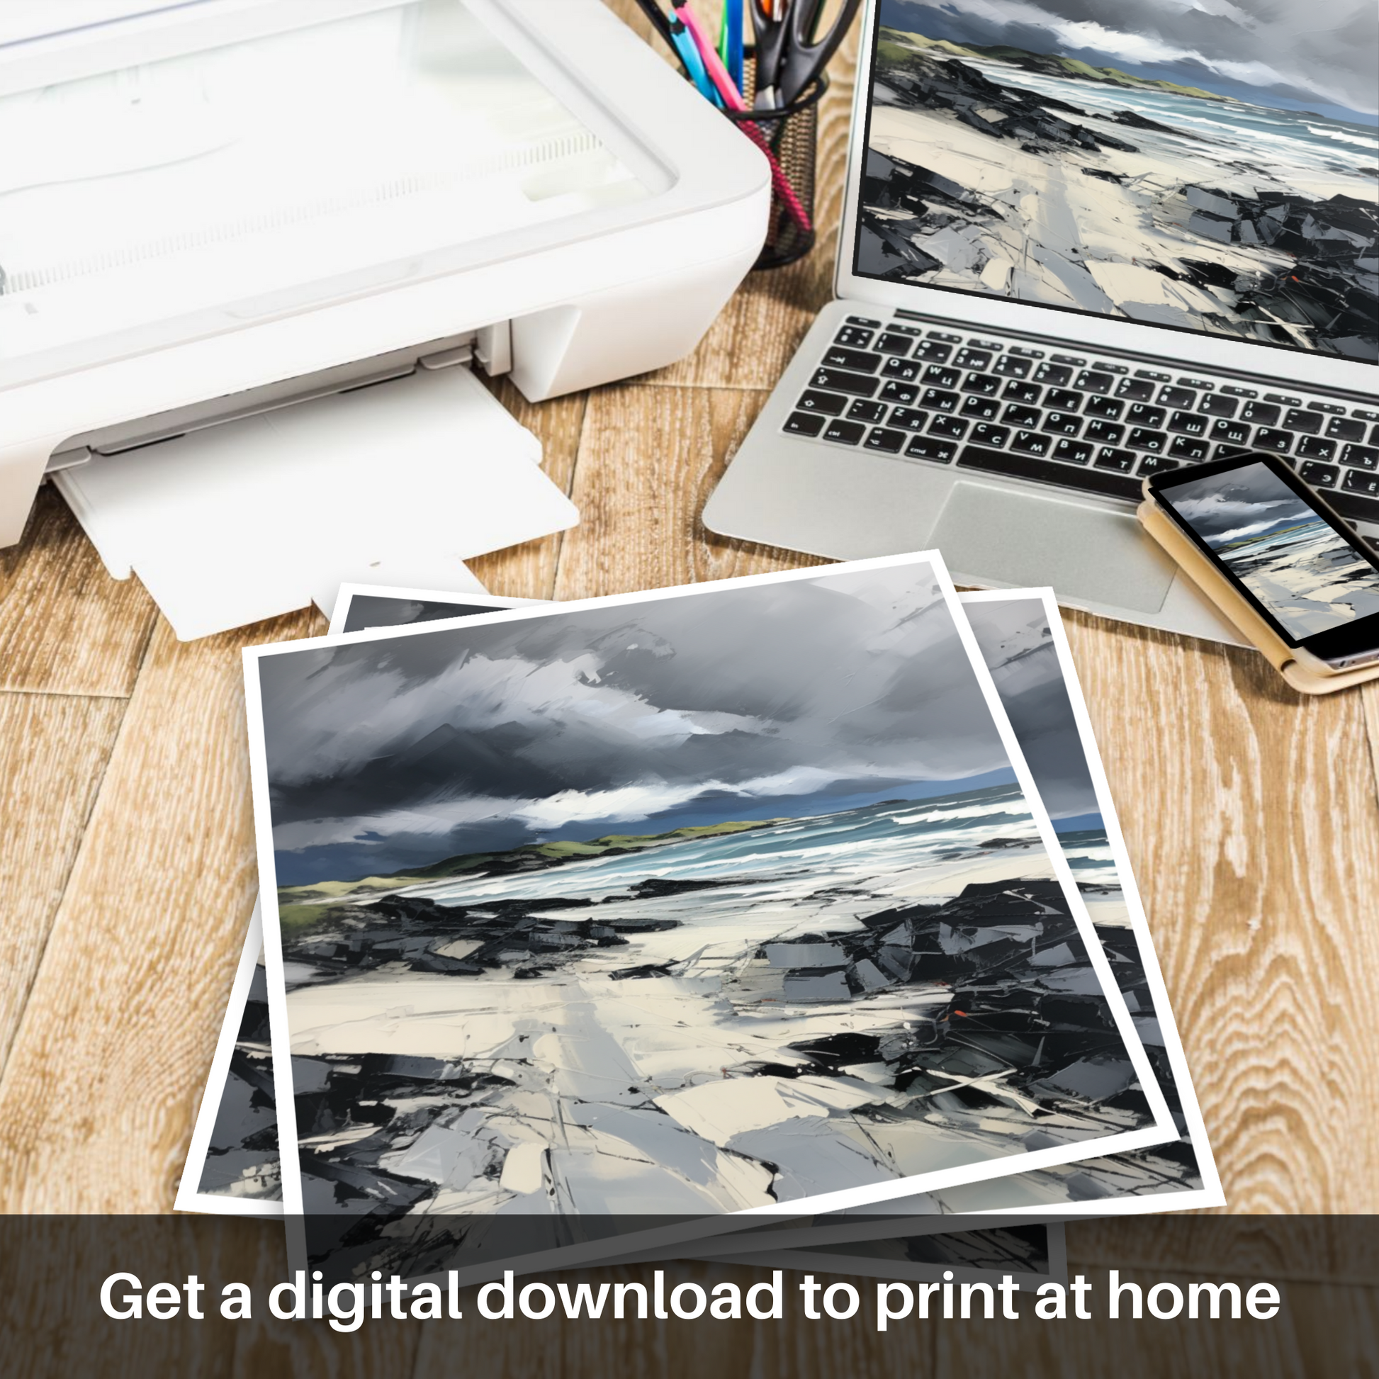
[[[258,666],[280,884],[1012,779],[925,564]]]

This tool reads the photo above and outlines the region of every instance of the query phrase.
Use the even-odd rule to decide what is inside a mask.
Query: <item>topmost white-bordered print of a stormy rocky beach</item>
[[[841,1207],[1161,1139],[945,583],[250,652],[290,1208]]]

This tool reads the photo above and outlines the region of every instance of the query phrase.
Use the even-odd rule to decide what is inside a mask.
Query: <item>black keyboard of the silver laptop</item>
[[[1343,517],[1379,523],[1379,411],[1014,336],[848,316],[783,430],[1134,501],[1146,474],[1266,450]]]

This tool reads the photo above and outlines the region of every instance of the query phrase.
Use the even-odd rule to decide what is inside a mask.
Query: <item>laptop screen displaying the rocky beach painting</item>
[[[1379,363],[1373,0],[877,0],[854,272]]]

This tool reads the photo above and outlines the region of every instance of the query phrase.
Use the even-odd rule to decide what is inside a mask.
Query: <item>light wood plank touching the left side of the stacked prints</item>
[[[240,647],[161,619],[0,1077],[0,1209],[165,1211],[256,889]]]

